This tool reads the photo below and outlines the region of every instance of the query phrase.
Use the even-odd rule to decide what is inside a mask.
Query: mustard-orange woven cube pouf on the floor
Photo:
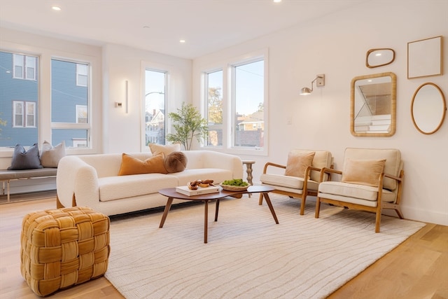
[[[108,266],[109,217],[87,207],[36,211],[22,221],[20,270],[36,295],[102,276]]]

